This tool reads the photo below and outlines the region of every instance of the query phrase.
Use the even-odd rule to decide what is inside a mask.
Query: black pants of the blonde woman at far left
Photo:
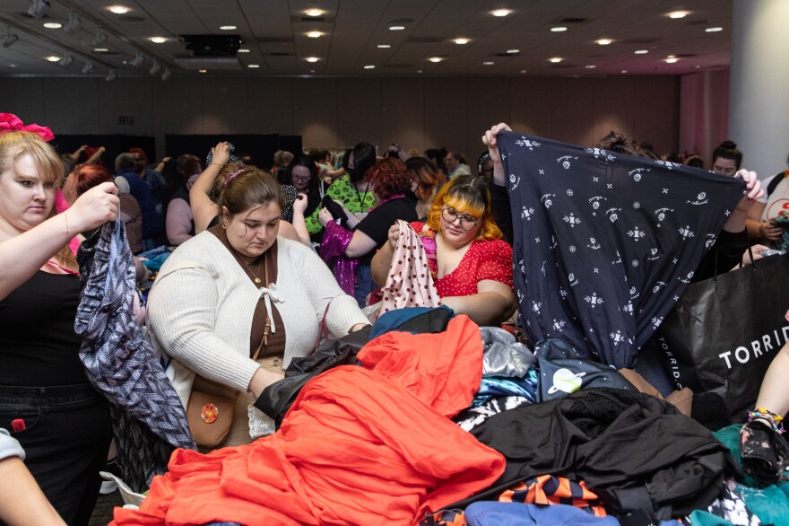
[[[24,430],[13,431],[15,419]],[[22,444],[25,465],[64,521],[87,524],[107,461],[108,402],[88,383],[0,386],[0,426]]]

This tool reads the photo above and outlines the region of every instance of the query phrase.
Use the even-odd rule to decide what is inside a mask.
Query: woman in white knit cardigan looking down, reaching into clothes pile
[[[168,373],[184,407],[195,373],[240,391],[225,443],[238,445],[273,432],[250,404],[293,357],[315,348],[324,313],[334,338],[367,319],[315,252],[277,237],[282,193],[273,177],[240,164],[222,174],[221,224],[183,243],[161,267],[148,320],[152,342],[173,358]]]

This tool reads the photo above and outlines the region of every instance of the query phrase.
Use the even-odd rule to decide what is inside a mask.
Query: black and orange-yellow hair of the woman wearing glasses
[[[458,214],[481,217],[476,240],[498,240],[503,235],[493,220],[490,210],[488,182],[481,177],[458,175],[438,190],[428,212],[428,226],[435,232],[440,228],[441,208],[455,208]]]

